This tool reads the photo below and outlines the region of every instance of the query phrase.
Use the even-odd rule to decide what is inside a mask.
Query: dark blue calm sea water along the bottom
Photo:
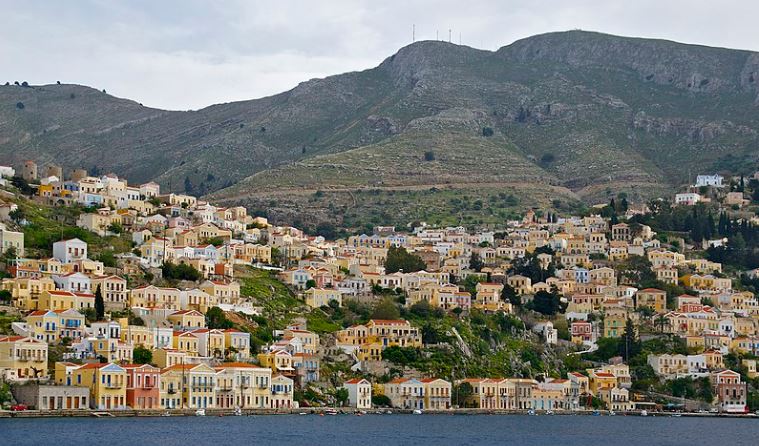
[[[0,419],[0,445],[759,445],[759,419],[276,415]]]

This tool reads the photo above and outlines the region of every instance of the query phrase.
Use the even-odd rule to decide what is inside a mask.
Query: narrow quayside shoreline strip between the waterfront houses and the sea
[[[241,414],[236,415],[234,409],[206,409],[206,417],[233,417],[233,416],[271,416],[271,415],[316,415],[325,416],[333,410],[329,407],[309,407],[301,409],[243,409]],[[396,415],[413,415],[411,409],[372,409],[360,411],[354,408],[340,408],[337,415],[387,415],[388,412]],[[4,418],[155,418],[155,417],[194,417],[195,409],[174,410],[97,410],[97,409],[70,409],[70,410],[25,410],[25,411],[0,411],[0,419]],[[551,414],[546,411],[536,411],[534,414],[527,410],[488,410],[488,409],[450,409],[450,410],[425,410],[423,415],[521,415],[521,416],[634,416],[634,417],[691,417],[691,418],[757,418],[754,413],[701,413],[701,412],[648,412],[642,415],[640,411],[618,412],[610,415],[608,411],[554,411]]]

